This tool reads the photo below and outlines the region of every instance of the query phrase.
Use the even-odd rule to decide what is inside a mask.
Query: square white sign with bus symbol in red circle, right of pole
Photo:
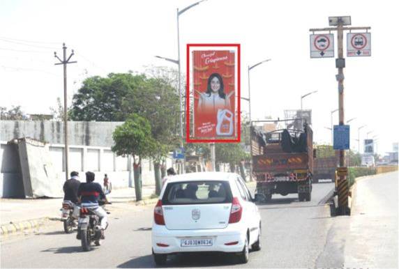
[[[347,33],[347,56],[371,56],[371,33]]]

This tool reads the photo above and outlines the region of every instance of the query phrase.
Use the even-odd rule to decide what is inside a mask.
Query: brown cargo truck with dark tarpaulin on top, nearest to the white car
[[[255,197],[271,201],[273,194],[298,194],[299,201],[312,199],[313,130],[280,129],[251,131]]]

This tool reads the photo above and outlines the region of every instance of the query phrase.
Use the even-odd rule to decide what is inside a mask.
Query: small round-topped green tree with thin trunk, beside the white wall
[[[153,148],[151,126],[149,121],[137,114],[131,114],[123,125],[115,128],[112,134],[114,146],[112,151],[118,156],[132,156],[135,178],[136,200],[142,199],[140,162],[144,157],[149,157]],[[139,157],[137,162],[136,156]]]

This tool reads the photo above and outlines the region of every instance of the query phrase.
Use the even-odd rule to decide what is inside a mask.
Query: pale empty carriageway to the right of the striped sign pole
[[[347,218],[345,268],[397,268],[398,172],[357,178]]]

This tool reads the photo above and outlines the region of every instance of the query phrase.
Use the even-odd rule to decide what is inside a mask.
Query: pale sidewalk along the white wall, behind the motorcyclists
[[[143,199],[149,199],[154,193],[155,185],[142,187]],[[129,201],[135,201],[135,198],[134,187],[112,190],[112,192],[107,195],[107,199],[111,203],[126,203]],[[29,220],[59,218],[61,216],[60,208],[62,201],[63,199],[61,198],[0,199],[0,226],[3,228],[4,225],[11,223],[19,224]],[[31,226],[34,226],[34,224],[31,224]],[[14,229],[11,229],[11,232],[13,232],[13,230]],[[1,233],[3,233],[3,231],[1,231]]]

